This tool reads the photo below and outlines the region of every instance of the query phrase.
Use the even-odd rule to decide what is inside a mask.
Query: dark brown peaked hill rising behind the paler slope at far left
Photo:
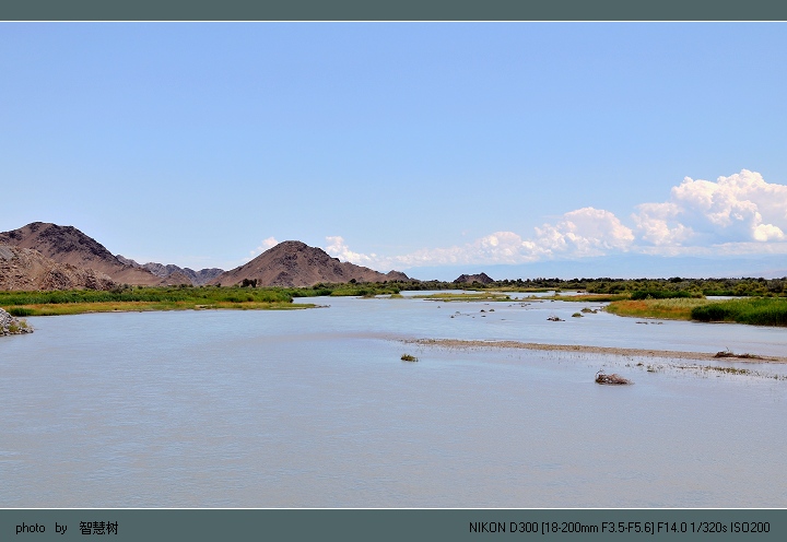
[[[31,248],[57,263],[68,263],[109,275],[118,283],[156,285],[162,279],[146,269],[124,264],[101,243],[73,226],[33,222],[0,233],[0,245]]]

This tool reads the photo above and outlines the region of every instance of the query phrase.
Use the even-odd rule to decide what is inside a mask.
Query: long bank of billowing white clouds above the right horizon
[[[621,252],[663,256],[787,254],[787,186],[743,169],[715,181],[684,178],[662,202],[636,205],[627,224],[591,207],[563,214],[522,236],[494,232],[465,245],[398,256],[352,251],[339,236],[326,251],[376,269],[467,263],[526,263]]]

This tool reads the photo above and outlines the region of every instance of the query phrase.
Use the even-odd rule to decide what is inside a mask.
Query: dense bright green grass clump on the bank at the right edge
[[[700,321],[729,321],[754,326],[787,326],[787,299],[784,297],[748,297],[715,302],[692,309]]]

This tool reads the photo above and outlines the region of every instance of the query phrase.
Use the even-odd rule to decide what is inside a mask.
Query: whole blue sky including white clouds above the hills
[[[785,255],[785,30],[0,24],[0,231],[195,269],[299,239],[415,276]]]

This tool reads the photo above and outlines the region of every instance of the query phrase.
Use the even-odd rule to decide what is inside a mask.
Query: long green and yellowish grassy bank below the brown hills
[[[209,308],[279,310],[314,306],[292,302],[293,296],[281,288],[125,287],[114,292],[0,292],[0,307],[13,316]]]

